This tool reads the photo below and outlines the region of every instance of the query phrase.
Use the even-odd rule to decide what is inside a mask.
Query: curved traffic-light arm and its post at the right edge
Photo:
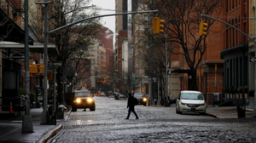
[[[255,1],[256,4],[256,1]],[[256,14],[256,10],[255,10],[255,14]],[[238,28],[236,28],[235,26],[230,25],[229,23],[224,22],[223,20],[218,20],[216,18],[213,18],[207,14],[201,14],[201,17],[207,17],[210,18],[212,20],[217,20],[218,22],[224,23],[225,25],[228,25],[234,29],[236,29],[236,31],[240,31],[241,34],[243,34],[244,36],[248,37],[250,40],[252,40],[254,42],[254,48],[255,48],[255,55],[256,56],[256,18],[253,18],[255,20],[255,33],[254,33],[254,39],[252,37],[249,37],[245,32],[239,30]],[[254,81],[254,107],[253,107],[253,117],[256,117],[256,62],[255,62],[255,81]]]

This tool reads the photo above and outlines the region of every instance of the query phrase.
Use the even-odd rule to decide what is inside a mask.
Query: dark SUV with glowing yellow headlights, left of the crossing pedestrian
[[[90,108],[90,111],[95,111],[95,100],[93,99],[94,95],[90,94],[88,90],[75,90],[72,111],[77,112],[78,108]]]

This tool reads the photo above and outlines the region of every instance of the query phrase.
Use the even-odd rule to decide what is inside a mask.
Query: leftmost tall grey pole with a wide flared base
[[[32,117],[30,115],[30,96],[29,96],[29,47],[28,47],[28,0],[25,0],[25,96],[26,111],[22,120],[22,132],[32,133]]]

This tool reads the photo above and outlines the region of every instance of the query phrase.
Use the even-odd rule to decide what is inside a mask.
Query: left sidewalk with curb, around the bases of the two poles
[[[0,142],[44,142],[45,139],[55,134],[56,131],[62,128],[58,121],[67,120],[70,112],[64,112],[63,119],[57,119],[57,125],[41,125],[41,114],[43,108],[32,108],[30,110],[32,117],[33,133],[22,133],[23,116],[15,119],[0,120]]]

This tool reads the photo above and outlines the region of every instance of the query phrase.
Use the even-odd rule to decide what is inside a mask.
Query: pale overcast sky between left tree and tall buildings
[[[115,0],[91,0],[90,5],[96,5],[102,8],[100,14],[115,14]],[[108,10],[104,10],[108,9]],[[109,10],[112,9],[113,11]],[[108,16],[102,18],[102,25],[108,27],[113,33],[115,33],[115,16]],[[113,40],[115,38],[113,37]],[[114,42],[114,41],[113,41]],[[114,43],[113,43],[114,44]]]

